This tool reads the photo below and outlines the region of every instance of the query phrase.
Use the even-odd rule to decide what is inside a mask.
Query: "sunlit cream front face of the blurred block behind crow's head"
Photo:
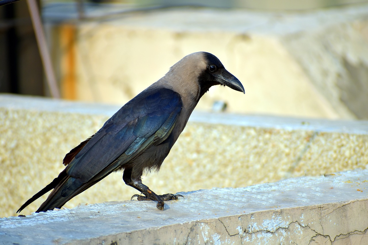
[[[230,112],[337,117],[277,40],[257,35],[247,38],[226,32],[206,35],[185,32],[176,38],[178,34],[172,31],[139,31],[118,24],[86,24],[81,28],[78,50],[88,52],[78,56],[78,99],[93,101],[95,95],[99,96],[97,101],[125,103],[162,77],[185,55],[204,50],[215,54],[240,79],[246,88],[246,96],[213,87],[199,102],[199,109],[210,110],[214,101],[224,100]],[[85,35],[92,30],[99,35]],[[106,36],[111,36],[109,42],[106,42]],[[146,45],[147,40],[155,48]],[[234,50],[221,49],[233,40],[235,47],[231,49]],[[163,50],[167,51],[162,53]],[[84,59],[96,62],[87,68]],[[286,69],[288,72],[280,72]],[[295,101],[301,103],[293,103]]]

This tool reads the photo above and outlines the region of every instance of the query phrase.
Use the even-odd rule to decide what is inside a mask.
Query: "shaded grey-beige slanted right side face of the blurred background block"
[[[341,117],[368,118],[367,15],[305,36],[290,35],[283,43]],[[317,62],[311,65],[313,61]]]

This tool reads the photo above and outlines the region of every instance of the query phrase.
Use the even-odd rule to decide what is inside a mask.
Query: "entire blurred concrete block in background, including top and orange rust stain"
[[[367,4],[297,12],[124,7],[114,6],[110,18],[109,10],[99,18],[103,5],[86,7],[97,17],[83,22],[60,4],[43,11],[58,76],[72,74],[76,98],[123,104],[185,55],[206,51],[246,95],[214,87],[200,109],[223,100],[233,113],[368,118]]]

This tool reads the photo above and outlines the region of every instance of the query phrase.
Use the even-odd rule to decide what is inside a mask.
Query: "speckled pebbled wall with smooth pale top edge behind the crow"
[[[94,134],[118,106],[0,95],[0,216],[15,215],[63,170],[63,157]],[[159,173],[143,177],[156,193],[245,187],[288,177],[366,168],[368,122],[301,120],[194,112]],[[128,200],[135,189],[113,173],[73,198]],[[47,195],[22,214],[34,212]]]

